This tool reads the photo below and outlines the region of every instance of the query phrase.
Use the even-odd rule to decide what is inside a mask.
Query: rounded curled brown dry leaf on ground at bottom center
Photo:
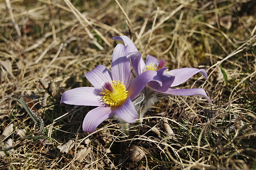
[[[138,162],[145,156],[144,149],[134,144],[128,148],[128,151],[129,158],[132,162]]]

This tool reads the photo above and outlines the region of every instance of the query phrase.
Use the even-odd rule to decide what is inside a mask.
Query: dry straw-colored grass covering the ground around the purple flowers
[[[0,169],[255,169],[255,11],[254,0],[0,0]],[[178,88],[204,88],[213,105],[168,96],[126,130],[108,119],[83,132],[93,107],[61,95],[90,86],[84,73],[98,64],[111,68],[120,35],[169,70],[205,68],[208,80]]]

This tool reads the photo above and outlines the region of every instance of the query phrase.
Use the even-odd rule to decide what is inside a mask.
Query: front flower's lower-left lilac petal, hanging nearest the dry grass
[[[113,116],[111,107],[96,107],[90,110],[83,119],[83,131],[92,133],[104,120]]]

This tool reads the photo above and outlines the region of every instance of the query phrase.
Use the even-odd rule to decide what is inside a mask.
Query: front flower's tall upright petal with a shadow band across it
[[[130,82],[130,57],[127,56],[128,46],[117,44],[113,51],[111,73],[115,81],[120,80],[127,87]]]

